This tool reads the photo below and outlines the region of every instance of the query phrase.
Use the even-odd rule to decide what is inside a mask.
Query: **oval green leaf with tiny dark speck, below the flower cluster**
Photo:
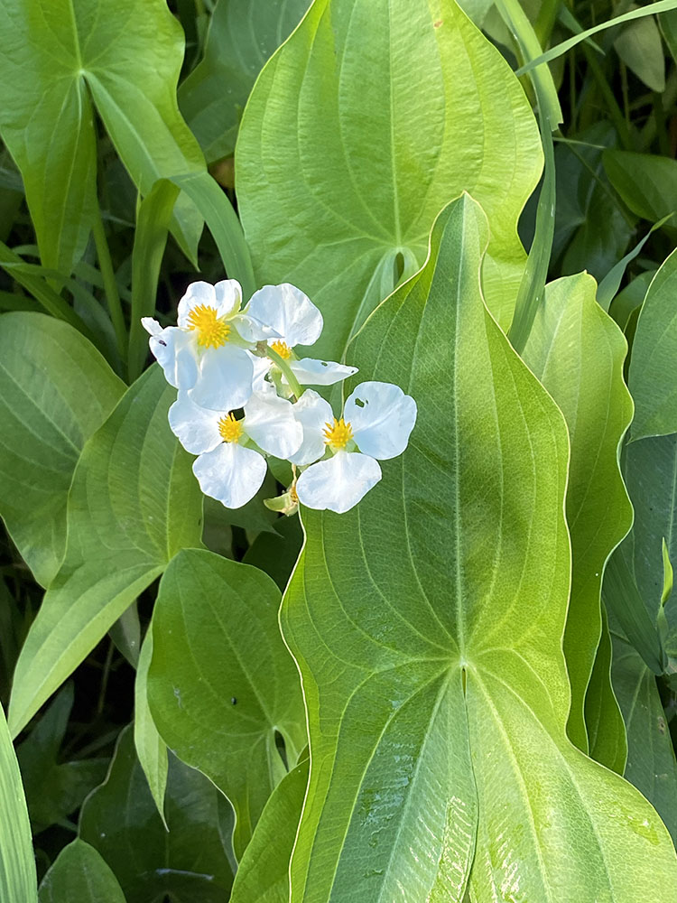
[[[162,577],[148,696],[158,730],[236,812],[239,857],[265,801],[305,746],[299,675],[280,636],[267,574],[187,549]]]

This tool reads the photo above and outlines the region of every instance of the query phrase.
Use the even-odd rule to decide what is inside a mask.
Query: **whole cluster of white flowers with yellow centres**
[[[170,385],[172,432],[191,454],[202,491],[241,507],[261,488],[266,455],[292,463],[294,481],[279,507],[357,505],[381,479],[378,461],[402,454],[416,420],[411,396],[365,382],[340,417],[317,392],[357,373],[335,361],[299,358],[314,344],[322,315],[290,284],[265,285],[242,307],[234,279],[189,285],[178,324],[144,318],[150,347]],[[272,506],[274,507],[274,506]]]

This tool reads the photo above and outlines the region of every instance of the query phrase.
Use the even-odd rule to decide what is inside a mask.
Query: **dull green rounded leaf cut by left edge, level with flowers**
[[[0,321],[0,513],[47,586],[66,547],[66,499],[79,453],[125,390],[97,349],[42,313]]]

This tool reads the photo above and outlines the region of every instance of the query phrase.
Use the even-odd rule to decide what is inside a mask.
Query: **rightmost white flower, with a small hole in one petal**
[[[348,398],[337,420],[311,389],[294,405],[303,440],[289,460],[302,466],[327,450],[296,481],[302,505],[343,514],[381,479],[378,461],[402,454],[416,422],[416,403],[392,383],[366,382]]]

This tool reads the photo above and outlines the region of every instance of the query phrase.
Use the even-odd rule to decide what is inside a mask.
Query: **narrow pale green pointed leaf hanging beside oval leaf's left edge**
[[[149,627],[141,647],[134,682],[134,746],[157,811],[166,827],[164,793],[167,789],[167,747],[157,732],[147,698],[148,668],[152,657],[153,628]]]

